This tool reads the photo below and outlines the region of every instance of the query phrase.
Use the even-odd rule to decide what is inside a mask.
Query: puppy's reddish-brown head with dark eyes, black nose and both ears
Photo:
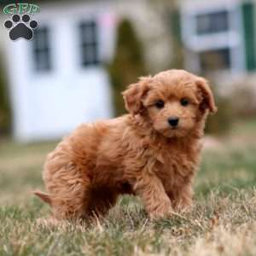
[[[123,96],[131,114],[148,119],[165,137],[185,137],[207,113],[217,110],[207,80],[183,70],[142,78]]]

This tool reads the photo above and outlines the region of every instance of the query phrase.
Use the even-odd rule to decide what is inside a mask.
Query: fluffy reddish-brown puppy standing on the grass
[[[44,183],[55,218],[103,215],[121,194],[138,195],[151,218],[192,204],[191,182],[207,113],[205,79],[183,70],[142,78],[123,93],[129,114],[80,125],[48,155]]]

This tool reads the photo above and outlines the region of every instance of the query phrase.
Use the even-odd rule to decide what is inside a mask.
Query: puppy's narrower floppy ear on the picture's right
[[[206,110],[209,109],[211,113],[217,112],[217,107],[214,102],[214,97],[212,95],[212,90],[206,79],[199,78],[195,82],[197,85],[200,94],[201,94],[201,109]]]

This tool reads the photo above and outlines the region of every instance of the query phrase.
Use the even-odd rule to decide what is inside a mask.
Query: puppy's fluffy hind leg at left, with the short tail
[[[74,163],[60,166],[55,163],[56,160],[48,161],[44,169],[44,182],[54,218],[85,218],[90,201],[90,178]],[[48,201],[44,194],[36,195]]]

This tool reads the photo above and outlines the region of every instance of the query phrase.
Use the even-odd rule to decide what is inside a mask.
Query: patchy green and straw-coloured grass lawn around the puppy
[[[256,255],[256,121],[234,125],[203,152],[195,207],[149,221],[140,202],[120,198],[107,218],[58,226],[30,194],[55,143],[0,139],[0,255]]]

